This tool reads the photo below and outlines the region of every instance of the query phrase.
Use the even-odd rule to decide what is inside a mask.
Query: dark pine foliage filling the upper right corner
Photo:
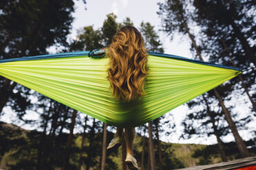
[[[253,22],[253,15],[248,11],[255,12],[253,6],[256,5],[255,1],[200,1],[195,0],[193,5],[196,8],[198,18],[201,23],[211,27],[213,25],[221,29],[232,29],[231,34],[239,40],[244,53],[246,53],[246,60],[250,60],[256,66],[255,58],[255,45],[250,45],[248,39],[255,37],[251,28],[255,27]],[[244,29],[246,28],[246,29]]]

